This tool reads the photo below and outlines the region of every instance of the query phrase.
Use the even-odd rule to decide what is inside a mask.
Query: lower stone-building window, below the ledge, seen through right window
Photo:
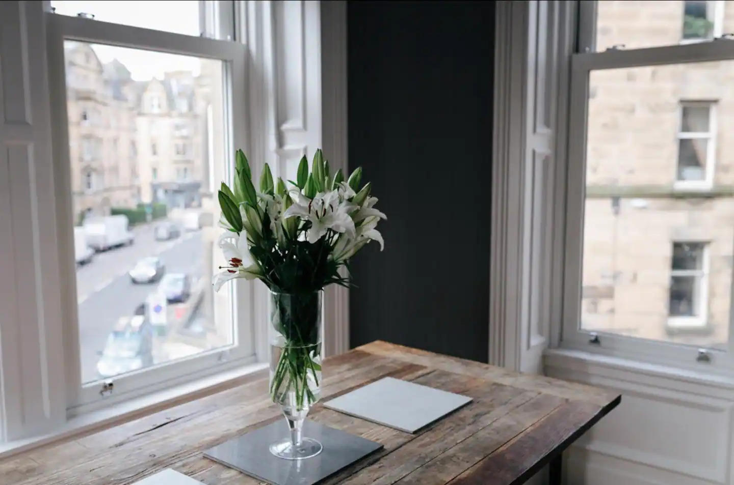
[[[708,262],[705,243],[673,243],[668,306],[669,327],[706,325]]]

